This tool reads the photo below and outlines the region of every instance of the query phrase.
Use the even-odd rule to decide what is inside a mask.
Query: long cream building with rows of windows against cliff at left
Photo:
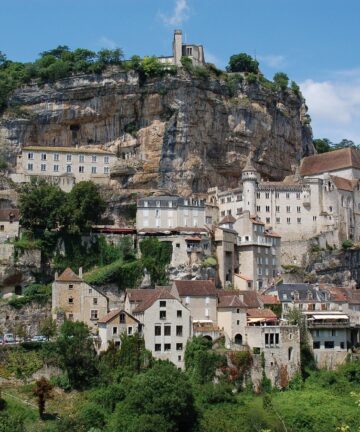
[[[32,177],[42,178],[69,191],[83,180],[107,182],[116,160],[114,153],[95,148],[24,147],[11,178],[16,183],[29,182]]]

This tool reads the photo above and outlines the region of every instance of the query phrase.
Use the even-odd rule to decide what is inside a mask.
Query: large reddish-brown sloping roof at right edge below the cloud
[[[351,167],[360,169],[360,151],[344,148],[305,157],[301,163],[300,174],[311,176]]]

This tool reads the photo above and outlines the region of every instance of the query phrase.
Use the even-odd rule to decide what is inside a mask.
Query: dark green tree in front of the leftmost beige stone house
[[[88,386],[97,375],[97,357],[90,329],[83,322],[65,321],[55,342],[59,366],[73,388]]]

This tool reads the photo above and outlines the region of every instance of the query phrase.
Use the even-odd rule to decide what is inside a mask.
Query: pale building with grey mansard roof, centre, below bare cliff
[[[138,230],[156,228],[172,230],[179,227],[205,226],[205,203],[193,198],[157,196],[141,198],[137,203]]]

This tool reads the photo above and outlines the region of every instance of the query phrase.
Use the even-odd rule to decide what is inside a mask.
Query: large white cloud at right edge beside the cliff
[[[334,79],[300,84],[309,107],[315,138],[360,143],[360,69],[338,71]]]

